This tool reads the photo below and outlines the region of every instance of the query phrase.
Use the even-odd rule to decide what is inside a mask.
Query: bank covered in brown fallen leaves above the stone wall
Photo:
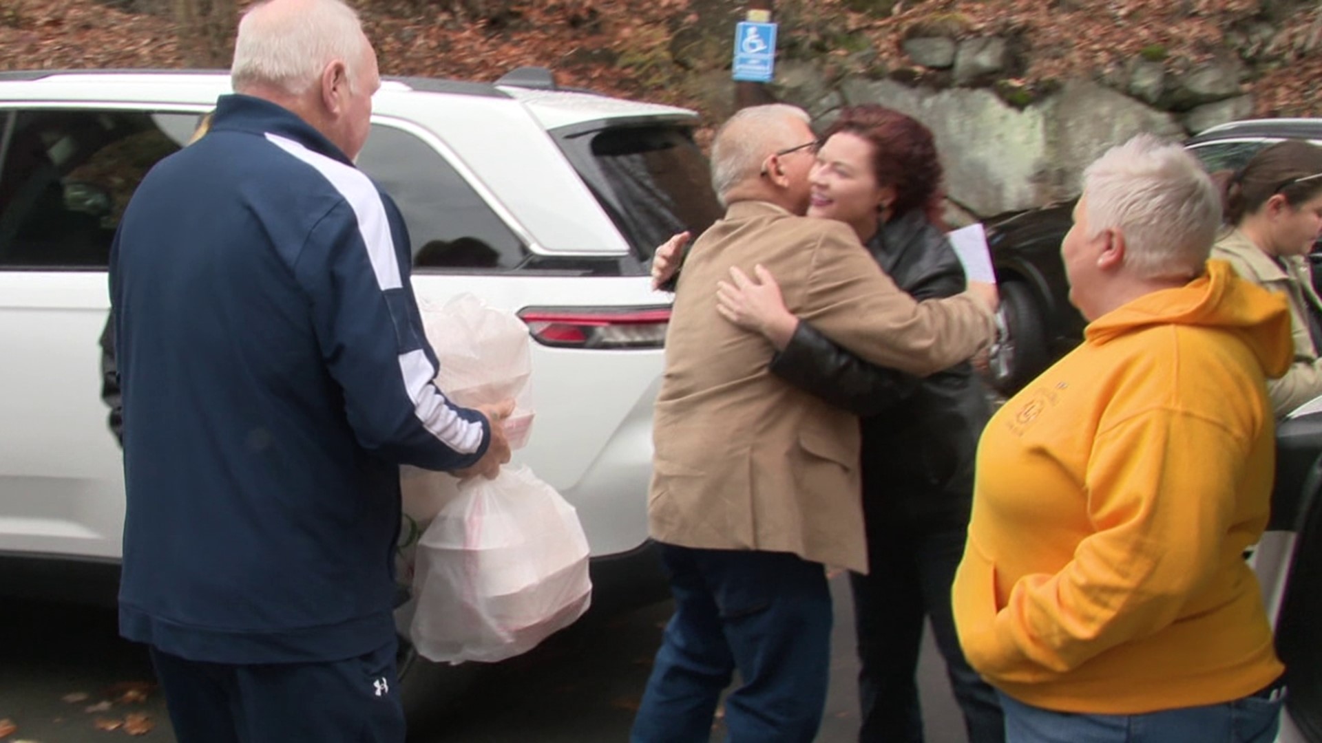
[[[123,5],[123,3],[118,3]],[[836,56],[845,70],[861,49],[870,69],[910,65],[914,34],[1003,34],[1023,62],[1026,86],[1072,75],[1104,77],[1137,56],[1171,71],[1216,54],[1255,61],[1245,82],[1261,115],[1322,115],[1322,5],[1315,0],[900,0],[876,17],[867,0],[779,0],[793,42]],[[114,4],[111,4],[114,5]],[[127,13],[97,0],[4,0],[0,69],[177,67],[168,17]],[[361,0],[386,74],[492,81],[521,65],[549,66],[562,85],[687,103],[674,81],[690,70],[669,40],[720,0]],[[488,17],[447,8],[481,7]],[[501,11],[492,13],[492,7]],[[1270,28],[1263,25],[1270,20]],[[1266,28],[1266,30],[1264,30]]]

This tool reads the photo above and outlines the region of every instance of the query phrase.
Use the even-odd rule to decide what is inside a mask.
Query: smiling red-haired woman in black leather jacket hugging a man
[[[915,299],[964,291],[964,270],[936,217],[941,165],[923,124],[880,106],[845,108],[825,132],[810,180],[808,215],[853,226],[882,270]],[[870,571],[850,574],[859,740],[921,743],[915,673],[929,617],[970,743],[999,743],[995,694],[964,660],[951,612],[973,459],[989,416],[982,385],[968,362],[925,379],[871,366],[791,316],[773,279],[760,275],[761,286],[722,291],[726,317],[755,331],[780,323],[781,332],[765,332],[768,338],[785,337],[787,323],[795,323],[771,372],[861,418]]]

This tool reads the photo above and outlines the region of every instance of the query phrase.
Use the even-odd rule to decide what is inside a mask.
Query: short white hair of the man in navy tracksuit
[[[364,38],[358,13],[341,0],[267,0],[239,21],[230,82],[238,93],[275,86],[299,95],[340,59],[353,85]]]

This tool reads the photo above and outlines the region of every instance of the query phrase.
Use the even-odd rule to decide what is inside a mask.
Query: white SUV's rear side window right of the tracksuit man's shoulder
[[[403,212],[415,266],[501,271],[517,267],[527,255],[524,242],[473,186],[416,136],[373,126],[358,167]]]

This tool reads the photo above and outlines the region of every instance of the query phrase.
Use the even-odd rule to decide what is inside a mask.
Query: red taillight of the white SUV
[[[557,348],[661,348],[669,307],[525,307],[518,316],[533,340]]]

